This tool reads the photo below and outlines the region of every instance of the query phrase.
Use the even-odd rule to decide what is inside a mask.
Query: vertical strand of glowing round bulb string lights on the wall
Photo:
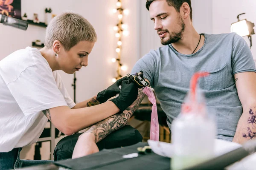
[[[128,15],[129,11],[127,9],[123,9],[122,8],[122,0],[117,0],[116,2],[116,9],[113,9],[113,13],[117,13],[118,12],[118,20],[119,22],[117,23],[116,26],[113,27],[113,30],[116,31],[116,38],[118,38],[117,41],[117,47],[116,47],[116,53],[117,53],[117,57],[116,58],[112,58],[111,61],[112,62],[117,62],[118,63],[118,68],[117,68],[117,77],[112,79],[112,82],[116,82],[117,79],[120,79],[122,77],[121,75],[121,71],[127,71],[127,66],[126,65],[122,65],[120,58],[121,58],[121,47],[122,47],[122,35],[124,36],[128,36],[129,31],[127,31],[126,29],[128,28],[128,26],[126,24],[123,24],[122,19],[123,19],[123,14]]]

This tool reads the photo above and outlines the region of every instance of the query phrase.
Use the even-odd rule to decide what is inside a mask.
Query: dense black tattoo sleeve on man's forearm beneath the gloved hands
[[[117,113],[113,116],[108,117],[101,122],[96,123],[95,125],[91,126],[89,130],[84,133],[93,133],[96,136],[96,141],[99,142],[108,136],[111,132],[125,126],[134,113],[138,108],[140,102],[143,100],[145,94],[142,90],[138,92],[138,98],[134,101],[134,103],[129,106],[123,113]]]

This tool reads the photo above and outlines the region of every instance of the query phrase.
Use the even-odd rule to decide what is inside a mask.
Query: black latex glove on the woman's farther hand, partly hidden
[[[116,94],[120,93],[119,85],[122,85],[122,81],[128,80],[128,77],[125,76],[122,79],[117,80],[113,85],[109,86],[104,91],[101,91],[97,94],[97,100],[101,103],[106,102],[108,99],[110,99],[113,96],[116,96]]]

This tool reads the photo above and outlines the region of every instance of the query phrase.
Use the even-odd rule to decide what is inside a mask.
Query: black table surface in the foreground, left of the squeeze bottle
[[[139,154],[135,158],[122,157],[137,153],[137,147],[147,145],[146,142],[140,142],[128,147],[104,149],[81,158],[55,161],[52,164],[26,167],[22,170],[60,170],[66,168],[72,170],[169,170],[170,159],[153,152]]]

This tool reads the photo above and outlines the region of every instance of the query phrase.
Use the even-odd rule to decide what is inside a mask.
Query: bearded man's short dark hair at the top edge
[[[156,0],[147,0],[146,2],[146,8],[149,11],[149,6],[152,2]],[[190,20],[192,20],[192,7],[191,7],[191,0],[166,0],[167,4],[169,6],[173,6],[177,12],[180,12],[180,6],[182,6],[183,3],[188,3],[190,8]]]

